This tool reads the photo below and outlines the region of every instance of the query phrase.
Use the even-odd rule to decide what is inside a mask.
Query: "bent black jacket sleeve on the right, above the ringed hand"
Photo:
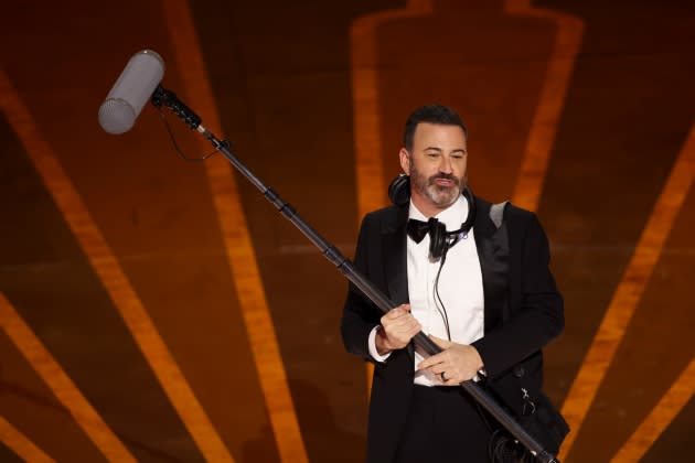
[[[541,351],[565,326],[563,298],[548,267],[547,237],[535,214],[527,217],[517,232],[522,233],[521,281],[510,282],[521,288],[521,306],[512,308],[509,321],[472,344],[491,378]]]

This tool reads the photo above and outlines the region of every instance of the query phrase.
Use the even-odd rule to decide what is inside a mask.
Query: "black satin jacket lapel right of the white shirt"
[[[502,320],[509,293],[509,239],[506,227],[490,219],[490,203],[475,200],[475,247],[480,259],[485,303],[485,333]]]

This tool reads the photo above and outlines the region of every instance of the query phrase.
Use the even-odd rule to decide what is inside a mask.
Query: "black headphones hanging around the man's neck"
[[[447,226],[435,217],[427,220],[429,226],[429,255],[434,260],[446,256],[449,248],[468,236],[475,220],[475,197],[469,187],[463,189],[463,197],[468,201],[468,216],[461,228],[447,232]],[[397,206],[404,206],[410,201],[410,176],[400,174],[388,185],[388,197]]]

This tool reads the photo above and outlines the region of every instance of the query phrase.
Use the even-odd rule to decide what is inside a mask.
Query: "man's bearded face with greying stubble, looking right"
[[[400,166],[410,175],[417,208],[432,216],[449,207],[466,187],[466,134],[458,126],[420,122],[410,153],[400,150]]]

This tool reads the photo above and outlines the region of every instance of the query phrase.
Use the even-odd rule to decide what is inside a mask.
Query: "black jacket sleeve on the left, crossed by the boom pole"
[[[371,240],[374,235],[370,230],[377,229],[375,217],[368,214],[362,220],[360,235],[357,237],[357,248],[355,250],[354,266],[367,279],[370,279],[370,256],[378,256],[375,241]],[[348,297],[343,306],[341,321],[341,334],[345,349],[366,360],[375,362],[370,355],[367,338],[374,326],[379,324],[381,311],[366,298],[353,283],[350,283]]]

